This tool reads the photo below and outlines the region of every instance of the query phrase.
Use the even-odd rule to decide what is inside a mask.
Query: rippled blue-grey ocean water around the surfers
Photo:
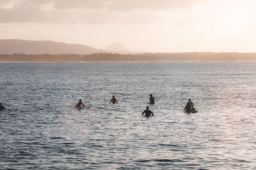
[[[0,169],[256,169],[256,62],[0,63],[0,74]],[[189,98],[198,113],[183,112]]]

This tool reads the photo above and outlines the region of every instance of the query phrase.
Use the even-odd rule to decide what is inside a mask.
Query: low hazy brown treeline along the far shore
[[[77,54],[38,54],[24,53],[0,55],[0,62],[172,62],[172,61],[252,61],[256,60],[256,53],[93,53],[89,55]]]

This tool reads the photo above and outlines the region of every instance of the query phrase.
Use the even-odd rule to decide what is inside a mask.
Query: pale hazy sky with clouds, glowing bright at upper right
[[[0,39],[256,52],[256,0],[0,0]]]

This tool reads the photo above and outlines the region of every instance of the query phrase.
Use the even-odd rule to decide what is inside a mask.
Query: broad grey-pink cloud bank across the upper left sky
[[[206,0],[13,0],[0,1],[1,23],[145,24],[168,9],[188,8]]]

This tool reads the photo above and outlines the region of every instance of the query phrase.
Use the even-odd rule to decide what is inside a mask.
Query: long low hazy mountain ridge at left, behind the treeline
[[[87,45],[67,44],[55,41],[30,41],[21,39],[0,39],[0,54],[90,54],[107,52]]]

